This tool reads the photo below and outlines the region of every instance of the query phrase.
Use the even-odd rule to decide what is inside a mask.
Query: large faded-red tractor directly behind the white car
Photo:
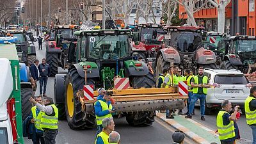
[[[182,70],[193,70],[198,67],[216,69],[216,56],[202,46],[204,27],[166,26],[164,28],[164,45],[166,48],[157,52],[156,77],[170,64],[178,65]]]

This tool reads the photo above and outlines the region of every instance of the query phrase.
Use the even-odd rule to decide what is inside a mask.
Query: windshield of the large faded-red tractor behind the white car
[[[180,52],[194,52],[197,47],[202,44],[202,35],[191,31],[175,31],[172,32],[170,45]]]

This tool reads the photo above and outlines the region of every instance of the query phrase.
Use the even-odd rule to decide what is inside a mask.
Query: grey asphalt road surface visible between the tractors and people
[[[35,42],[36,48],[38,43]],[[36,49],[36,54],[38,60],[42,61],[45,57],[45,47],[43,44],[43,50]],[[59,68],[61,70],[61,68]],[[39,83],[38,83],[39,87]],[[39,90],[39,88],[38,88]],[[39,95],[38,90],[36,95]],[[54,77],[49,77],[47,83],[47,92],[49,97],[54,98]],[[186,113],[186,109],[183,109]],[[196,107],[196,115],[193,115],[193,120],[205,125],[212,130],[216,130],[216,115],[218,111],[213,111],[212,115],[205,115],[205,121],[200,120],[200,109]],[[74,131],[68,127],[65,120],[61,120],[59,123],[59,132],[56,138],[57,144],[73,144],[73,143],[93,143],[95,139],[96,129],[87,129],[81,131]],[[248,125],[246,125],[246,120],[244,116],[237,121],[239,126],[239,131],[241,138],[252,140],[252,131]],[[152,126],[148,127],[131,127],[127,124],[125,118],[115,119],[116,130],[120,132],[121,141],[125,144],[167,144],[172,143],[172,133],[175,131],[172,127],[164,124],[159,119],[156,118],[156,122]],[[31,140],[25,139],[25,143],[32,143]],[[194,143],[192,140],[186,138],[185,143]]]

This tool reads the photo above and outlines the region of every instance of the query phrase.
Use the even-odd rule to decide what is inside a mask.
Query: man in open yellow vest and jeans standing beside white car
[[[204,68],[198,68],[198,75],[191,79],[191,87],[193,88],[193,95],[191,97],[191,102],[189,106],[189,114],[185,118],[192,118],[192,112],[195,108],[195,103],[200,100],[200,111],[201,111],[201,120],[205,120],[204,111],[205,111],[205,99],[207,95],[207,88],[210,88],[209,79],[207,76],[204,76]]]

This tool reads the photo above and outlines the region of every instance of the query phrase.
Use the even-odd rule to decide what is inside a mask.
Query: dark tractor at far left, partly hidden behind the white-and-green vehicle
[[[6,35],[13,35],[17,37],[15,43],[19,60],[26,65],[31,65],[36,60],[36,48],[34,44],[28,42],[26,31],[23,29],[7,30]]]

